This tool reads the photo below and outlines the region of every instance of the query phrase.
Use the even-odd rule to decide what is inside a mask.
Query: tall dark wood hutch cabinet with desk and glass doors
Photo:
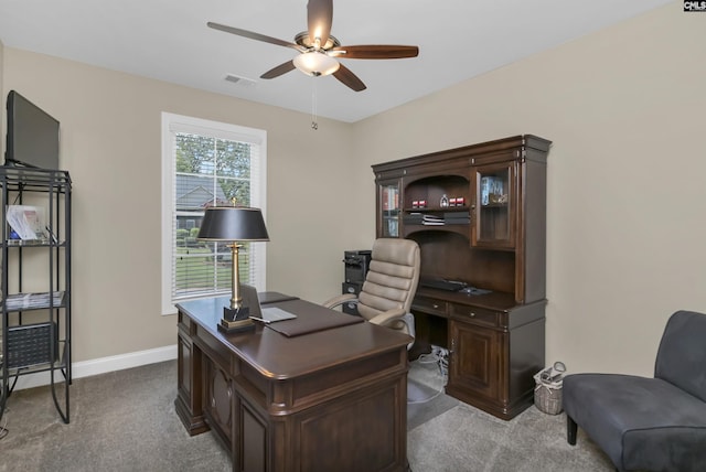
[[[503,419],[544,367],[549,146],[524,135],[373,165],[377,237],[421,248],[410,355],[447,347],[447,394]]]

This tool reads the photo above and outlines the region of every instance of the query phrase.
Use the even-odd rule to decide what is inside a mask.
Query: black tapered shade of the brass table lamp
[[[213,206],[203,215],[197,239],[269,240],[263,213],[247,206]]]

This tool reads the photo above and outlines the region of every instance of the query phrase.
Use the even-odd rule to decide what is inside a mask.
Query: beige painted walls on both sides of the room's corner
[[[673,2],[315,132],[303,114],[6,49],[3,95],[17,88],[62,121],[75,360],[174,343],[158,299],[159,114],[170,111],[268,131],[268,289],[315,301],[340,290],[342,250],[374,237],[371,164],[518,133],[553,140],[547,361],[651,374],[668,314],[706,311],[702,17]]]

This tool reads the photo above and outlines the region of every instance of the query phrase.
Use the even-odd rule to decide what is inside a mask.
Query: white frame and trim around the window
[[[161,312],[163,315],[175,314],[176,308],[174,303],[178,302],[172,298],[172,280],[174,277],[173,251],[176,247],[176,234],[173,226],[173,217],[176,210],[174,137],[175,133],[179,132],[188,132],[229,141],[247,142],[259,147],[258,178],[250,180],[250,205],[260,208],[263,217],[267,222],[267,131],[163,111],[161,115]],[[250,244],[264,245],[265,243]],[[266,268],[267,251],[261,248],[261,250],[258,250],[258,257],[255,261],[255,270],[250,270],[255,278],[250,280],[249,283],[253,285],[257,291],[266,290]],[[216,292],[212,292],[210,294],[202,293],[192,298],[180,298],[179,301],[213,297],[215,294]]]

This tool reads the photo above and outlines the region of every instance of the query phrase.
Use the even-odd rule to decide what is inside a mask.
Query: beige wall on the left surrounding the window
[[[350,125],[321,119],[313,131],[304,114],[10,47],[3,79],[3,95],[14,88],[61,121],[74,182],[74,361],[175,343],[159,300],[162,111],[267,130],[267,288],[319,301],[340,292],[342,253],[361,240],[341,202],[356,191],[340,179]]]

